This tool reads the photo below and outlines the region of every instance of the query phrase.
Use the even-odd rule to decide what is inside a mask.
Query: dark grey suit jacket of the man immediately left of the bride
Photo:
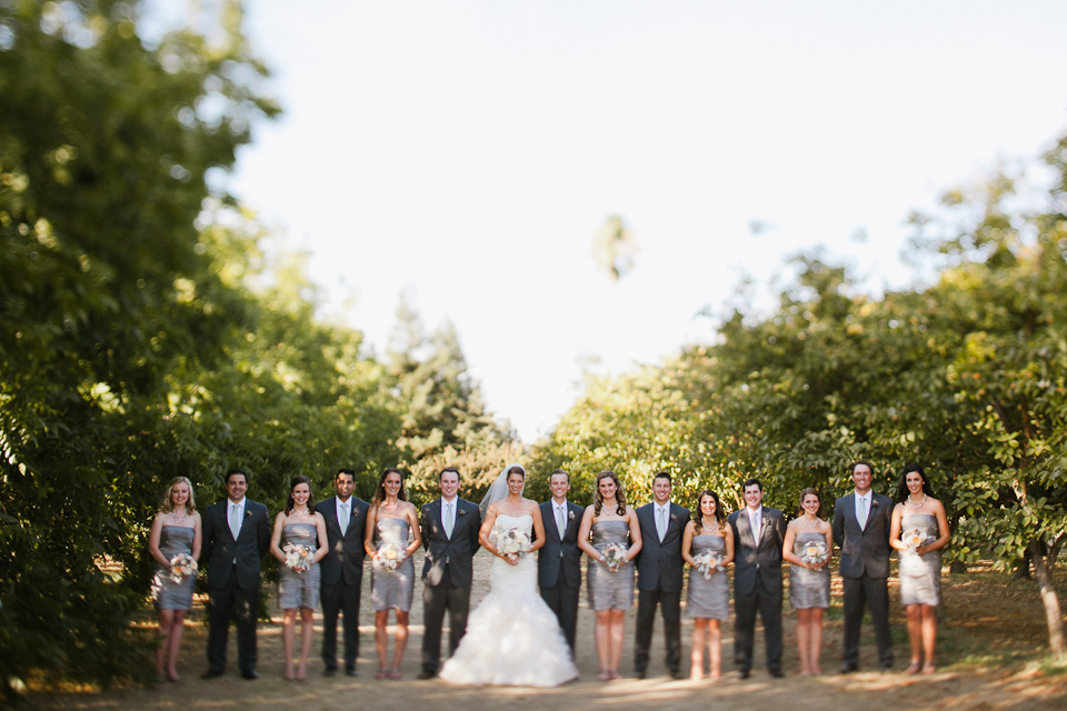
[[[481,509],[478,504],[456,497],[456,524],[451,537],[445,534],[441,522],[441,500],[435,499],[422,507],[419,523],[422,527],[422,548],[426,563],[422,565],[425,584],[438,587],[451,583],[470,589],[475,577],[471,558],[481,547],[478,531],[481,529]]]

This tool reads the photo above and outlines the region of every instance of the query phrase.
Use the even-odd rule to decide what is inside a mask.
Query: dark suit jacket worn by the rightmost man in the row
[[[841,547],[841,577],[889,577],[889,523],[893,500],[872,493],[867,525],[856,520],[856,492],[834,502],[834,540]]]

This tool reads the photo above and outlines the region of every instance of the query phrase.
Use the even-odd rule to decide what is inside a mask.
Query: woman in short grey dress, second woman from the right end
[[[822,653],[822,613],[830,607],[830,555],[834,552],[834,531],[829,521],[819,518],[822,497],[818,489],[800,492],[802,514],[786,527],[781,557],[789,561],[789,603],[797,611],[797,648],[800,652],[800,674],[822,673],[819,657]],[[805,562],[805,549],[821,543],[826,559]],[[810,558],[809,558],[810,560]]]

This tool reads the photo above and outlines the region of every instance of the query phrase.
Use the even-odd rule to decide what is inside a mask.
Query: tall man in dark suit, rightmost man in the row
[[[859,669],[859,628],[865,603],[875,624],[881,668],[893,668],[888,585],[893,501],[870,490],[872,473],[868,462],[852,464],[856,489],[834,504],[834,540],[841,547],[840,571],[845,585],[842,674]]]

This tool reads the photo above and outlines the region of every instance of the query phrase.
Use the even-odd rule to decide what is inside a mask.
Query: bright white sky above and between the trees
[[[1067,128],[1059,1],[250,0],[247,22],[286,114],[230,188],[377,352],[401,293],[455,323],[527,442],[582,363],[710,341],[695,314],[801,250],[907,283],[913,209]],[[610,214],[640,246],[618,283],[591,256]]]

